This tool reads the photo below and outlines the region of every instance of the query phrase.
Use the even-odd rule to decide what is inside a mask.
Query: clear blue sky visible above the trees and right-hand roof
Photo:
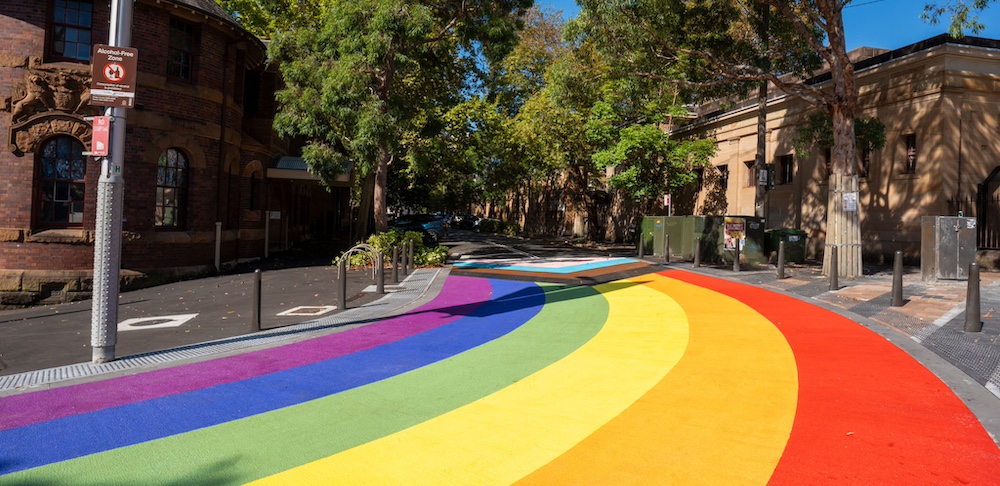
[[[848,50],[861,46],[898,49],[946,33],[947,19],[945,24],[936,26],[920,20],[925,3],[923,0],[854,0],[844,9]],[[580,11],[575,0],[535,0],[535,4],[562,10],[566,18]],[[987,27],[979,37],[1000,39],[1000,4],[987,9],[979,19]]]

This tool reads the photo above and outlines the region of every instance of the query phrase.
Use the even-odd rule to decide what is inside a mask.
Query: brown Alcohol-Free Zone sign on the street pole
[[[130,47],[94,45],[90,82],[90,104],[132,108],[138,50]]]

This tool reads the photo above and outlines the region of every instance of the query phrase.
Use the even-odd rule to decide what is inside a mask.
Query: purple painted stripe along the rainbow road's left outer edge
[[[491,292],[486,279],[449,277],[433,301],[350,331],[228,358],[0,398],[0,430],[232,383],[374,348],[455,321],[485,303]]]

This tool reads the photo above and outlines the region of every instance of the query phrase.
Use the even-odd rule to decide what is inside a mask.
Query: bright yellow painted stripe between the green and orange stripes
[[[596,287],[608,300],[607,324],[538,373],[440,417],[257,483],[510,484],[524,477],[631,406],[681,359],[688,343],[683,310],[643,285],[661,279],[647,275]]]

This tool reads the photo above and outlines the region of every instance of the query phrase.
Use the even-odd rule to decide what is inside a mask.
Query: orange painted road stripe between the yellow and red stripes
[[[690,322],[680,363],[635,405],[520,484],[766,484],[795,419],[784,335],[744,303],[674,279],[651,288]]]

